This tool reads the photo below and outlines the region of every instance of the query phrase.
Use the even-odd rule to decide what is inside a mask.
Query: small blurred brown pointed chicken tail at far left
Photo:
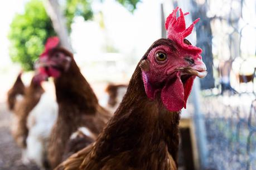
[[[21,76],[22,72],[18,74],[15,83],[7,93],[7,105],[10,111],[13,111],[15,104],[22,99],[25,93],[25,85],[22,82]]]

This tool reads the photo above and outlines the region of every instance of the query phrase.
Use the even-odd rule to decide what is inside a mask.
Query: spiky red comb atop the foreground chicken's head
[[[183,43],[184,38],[186,38],[187,36],[189,36],[189,34],[191,34],[195,24],[199,22],[200,18],[197,18],[186,29],[186,22],[185,22],[184,16],[189,14],[189,12],[186,12],[183,14],[182,9],[180,9],[180,17],[176,18],[177,11],[178,11],[178,7],[174,9],[166,19],[165,28],[167,30],[167,38],[180,44],[180,46],[185,49],[188,49],[196,53],[201,53],[202,52],[201,48]]]

